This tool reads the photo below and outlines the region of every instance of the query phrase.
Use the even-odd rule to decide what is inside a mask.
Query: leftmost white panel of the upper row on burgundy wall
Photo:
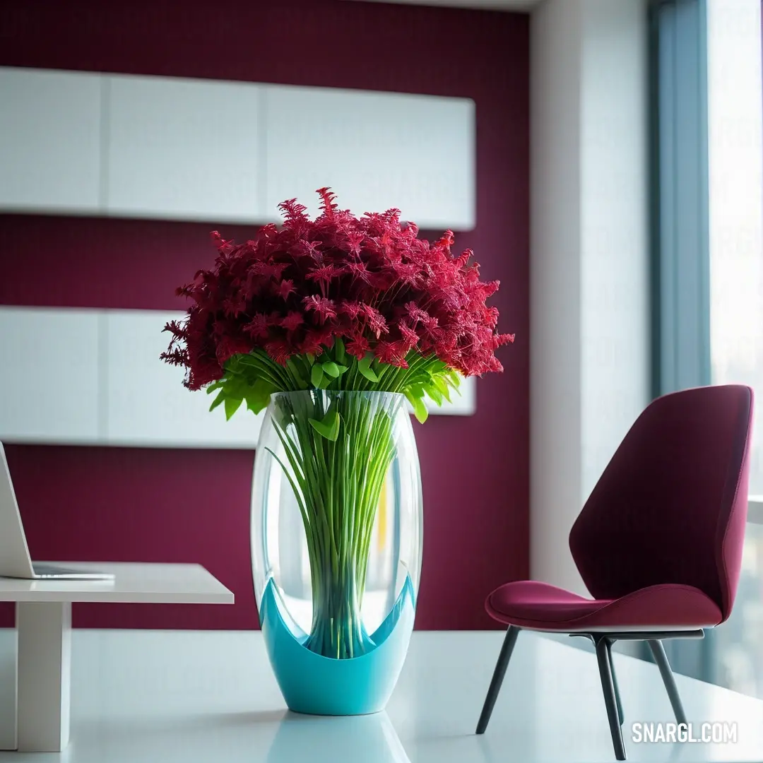
[[[98,209],[101,77],[0,67],[0,208]]]

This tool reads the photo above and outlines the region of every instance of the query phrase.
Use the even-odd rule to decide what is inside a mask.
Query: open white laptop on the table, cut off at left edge
[[[11,472],[0,443],[0,577],[24,580],[114,580],[108,572],[85,572],[47,562],[32,562],[16,503]]]

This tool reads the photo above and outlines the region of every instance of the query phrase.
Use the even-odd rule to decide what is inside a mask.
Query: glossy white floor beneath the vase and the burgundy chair
[[[76,630],[69,748],[5,752],[0,761],[613,760],[595,656],[529,633],[520,634],[488,731],[475,736],[502,639],[500,632],[416,632],[385,713],[316,718],[285,710],[259,633]],[[654,665],[615,655],[615,666],[629,760],[763,761],[763,701],[682,677],[690,720],[736,722],[737,742],[634,743],[632,723],[674,719]],[[8,673],[0,670],[7,686],[2,678]]]

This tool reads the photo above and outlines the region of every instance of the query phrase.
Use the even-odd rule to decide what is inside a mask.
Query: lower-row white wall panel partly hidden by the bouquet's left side
[[[262,416],[240,410],[225,420],[214,399],[182,385],[183,370],[159,360],[170,336],[162,329],[182,313],[108,311],[106,440],[111,445],[254,448]]]

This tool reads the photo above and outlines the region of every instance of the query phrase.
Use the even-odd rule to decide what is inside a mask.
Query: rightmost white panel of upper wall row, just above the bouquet
[[[465,98],[266,88],[266,208],[311,214],[329,186],[354,214],[396,207],[419,227],[475,227],[475,105]]]

